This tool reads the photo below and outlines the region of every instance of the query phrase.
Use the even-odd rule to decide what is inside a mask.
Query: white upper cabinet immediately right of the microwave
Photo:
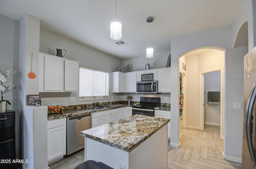
[[[158,69],[158,92],[171,92],[171,68]]]

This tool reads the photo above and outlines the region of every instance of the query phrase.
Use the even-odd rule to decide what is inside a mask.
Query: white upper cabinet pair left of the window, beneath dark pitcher
[[[39,92],[78,92],[79,62],[40,53]]]

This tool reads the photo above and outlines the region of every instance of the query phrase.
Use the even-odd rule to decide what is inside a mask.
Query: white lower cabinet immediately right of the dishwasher
[[[92,113],[92,127],[108,123],[108,111]]]

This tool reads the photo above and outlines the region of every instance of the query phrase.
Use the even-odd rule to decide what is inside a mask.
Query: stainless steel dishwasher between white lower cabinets
[[[67,118],[67,152],[70,155],[84,148],[84,137],[80,131],[92,128],[91,114],[77,115]]]

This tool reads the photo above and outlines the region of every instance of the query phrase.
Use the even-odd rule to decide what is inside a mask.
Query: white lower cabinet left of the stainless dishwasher
[[[48,162],[66,155],[66,118],[47,121]]]

